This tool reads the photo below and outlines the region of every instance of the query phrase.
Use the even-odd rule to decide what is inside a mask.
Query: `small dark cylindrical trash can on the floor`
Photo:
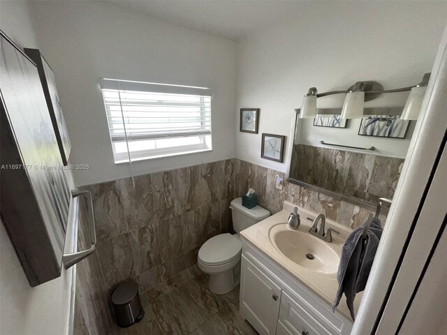
[[[140,322],[145,315],[138,295],[138,285],[131,281],[115,288],[112,292],[112,305],[119,327],[125,328]]]

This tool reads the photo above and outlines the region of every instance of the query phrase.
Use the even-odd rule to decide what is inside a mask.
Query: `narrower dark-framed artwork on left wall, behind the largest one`
[[[71,142],[70,137],[68,137],[64,114],[62,114],[59,94],[57,94],[54,73],[39,50],[25,48],[24,52],[37,66],[43,94],[45,94],[45,101],[47,102],[48,111],[50,112],[54,133],[56,135],[57,144],[59,145],[59,151],[61,152],[62,162],[64,165],[67,165],[71,152]]]

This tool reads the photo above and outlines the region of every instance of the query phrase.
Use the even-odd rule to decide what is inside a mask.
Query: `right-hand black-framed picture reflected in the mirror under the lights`
[[[399,115],[369,115],[360,122],[358,135],[388,138],[405,138],[410,121]]]

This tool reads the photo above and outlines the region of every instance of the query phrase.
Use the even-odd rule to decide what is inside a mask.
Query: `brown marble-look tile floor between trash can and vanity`
[[[226,295],[207,288],[207,275],[186,269],[140,295],[145,316],[122,333],[128,335],[256,335],[239,314],[239,286]]]

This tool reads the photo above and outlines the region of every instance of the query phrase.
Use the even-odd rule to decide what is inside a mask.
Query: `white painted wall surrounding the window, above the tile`
[[[96,1],[33,1],[41,51],[54,70],[77,185],[130,175],[115,165],[99,77],[210,87],[212,151],[133,163],[147,174],[235,156],[235,43]]]

